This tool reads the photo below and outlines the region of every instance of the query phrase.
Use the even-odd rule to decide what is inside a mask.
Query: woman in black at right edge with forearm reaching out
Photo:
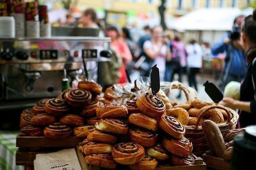
[[[240,88],[240,101],[224,97],[221,105],[239,109],[241,127],[256,125],[256,10],[245,18],[242,27],[242,41],[246,51],[247,73]],[[238,128],[241,128],[238,127]]]

